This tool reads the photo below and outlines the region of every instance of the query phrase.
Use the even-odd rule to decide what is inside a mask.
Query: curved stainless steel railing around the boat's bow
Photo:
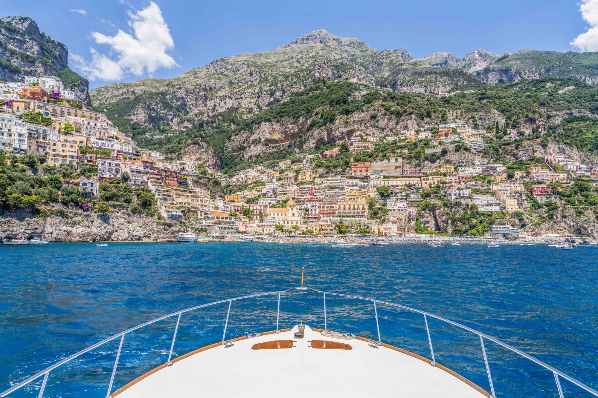
[[[109,338],[103,339],[100,342],[97,342],[96,344],[90,345],[87,348],[84,348],[83,350],[79,351],[78,353],[72,354],[71,356],[60,360],[59,362],[54,363],[54,365],[48,366],[48,368],[45,368],[42,371],[39,371],[37,373],[35,373],[35,375],[30,376],[29,378],[26,378],[25,380],[23,380],[22,382],[19,382],[16,385],[13,385],[12,387],[8,388],[8,390],[3,391],[2,393],[0,393],[0,398],[7,396],[8,394],[12,393],[13,391],[18,390],[19,388],[29,384],[30,382],[34,381],[35,379],[40,378],[41,376],[43,376],[43,380],[42,380],[42,384],[41,387],[39,388],[39,393],[38,393],[38,398],[42,398],[42,396],[44,395],[44,388],[47,384],[48,381],[48,375],[50,375],[50,372],[53,371],[56,368],[59,368],[60,366],[64,365],[65,363],[77,358],[78,356],[81,356],[84,353],[87,353],[88,351],[93,350],[94,348],[100,347],[100,345],[106,344],[107,342],[110,342],[118,337],[120,337],[120,343],[118,345],[118,351],[117,351],[117,356],[116,359],[114,361],[114,366],[112,367],[112,374],[110,377],[110,382],[108,384],[108,391],[106,393],[106,398],[109,398],[112,394],[112,386],[114,384],[114,376],[116,374],[117,368],[118,368],[118,360],[120,358],[120,353],[121,350],[123,348],[123,343],[124,343],[124,336],[127,333],[133,332],[134,330],[140,329],[141,327],[147,326],[149,324],[158,322],[160,320],[164,320],[173,316],[178,316],[177,320],[176,320],[176,326],[175,326],[175,332],[173,333],[172,336],[172,343],[170,344],[170,352],[168,355],[168,360],[167,360],[167,365],[172,365],[172,352],[173,349],[175,347],[175,340],[176,340],[176,333],[178,332],[179,329],[179,323],[181,322],[181,315],[184,313],[187,313],[189,311],[194,311],[194,310],[198,310],[199,308],[204,308],[204,307],[209,307],[210,305],[216,305],[216,304],[222,304],[225,302],[228,302],[228,311],[227,311],[227,316],[226,316],[226,321],[224,323],[224,332],[222,333],[222,344],[224,345],[226,342],[226,332],[227,332],[227,327],[228,327],[228,319],[230,316],[230,310],[231,310],[231,305],[233,303],[233,301],[238,301],[238,300],[242,300],[242,299],[248,299],[248,298],[255,298],[255,297],[259,297],[259,296],[267,296],[267,295],[277,295],[278,296],[278,304],[277,304],[277,311],[276,311],[276,331],[279,331],[279,320],[280,320],[280,295],[282,293],[288,293],[291,292],[292,290],[300,290],[300,291],[306,291],[309,290],[310,292],[315,292],[315,293],[320,293],[323,295],[324,298],[324,330],[328,330],[328,319],[327,319],[327,308],[326,308],[326,296],[338,296],[338,297],[343,297],[343,298],[351,298],[351,299],[358,299],[358,300],[364,300],[364,301],[370,301],[373,303],[374,305],[374,317],[376,318],[376,329],[377,329],[377,335],[378,335],[378,344],[382,344],[382,340],[380,338],[380,324],[378,322],[378,310],[377,310],[377,304],[383,304],[383,305],[389,305],[390,307],[396,307],[396,308],[402,308],[404,310],[408,310],[408,311],[413,311],[414,313],[419,313],[423,315],[423,320],[426,326],[426,333],[428,336],[428,344],[430,347],[430,354],[432,357],[431,360],[431,365],[435,365],[435,357],[434,357],[434,347],[432,345],[432,338],[430,336],[430,330],[429,330],[429,326],[428,326],[428,317],[432,317],[434,319],[438,319],[441,320],[443,322],[452,324],[453,326],[457,326],[460,327],[461,329],[464,330],[468,330],[469,332],[474,333],[475,335],[480,336],[480,345],[481,345],[481,349],[482,349],[482,353],[483,353],[483,357],[484,357],[484,364],[486,365],[486,373],[488,376],[488,381],[490,384],[490,393],[492,394],[492,397],[496,397],[496,393],[495,393],[495,388],[494,388],[494,384],[492,381],[492,373],[490,372],[490,365],[488,362],[488,357],[486,354],[486,347],[484,345],[484,339],[488,340],[488,341],[492,341],[495,342],[496,344],[501,345],[502,347],[507,348],[508,350],[514,352],[515,354],[518,354],[519,356],[522,356],[540,366],[542,366],[543,368],[547,369],[548,371],[552,372],[554,375],[554,381],[556,382],[556,388],[557,391],[559,393],[559,397],[560,398],[564,398],[563,396],[563,388],[561,387],[560,384],[560,378],[566,379],[570,382],[572,382],[573,384],[577,385],[578,387],[582,388],[583,390],[587,391],[588,393],[592,394],[593,396],[598,397],[598,391],[594,390],[591,387],[588,387],[587,385],[585,385],[584,383],[582,383],[581,381],[576,380],[575,378],[572,378],[569,375],[566,375],[565,373],[559,371],[558,369],[553,368],[552,366],[548,365],[547,363],[542,362],[539,359],[536,359],[526,353],[524,353],[523,351],[518,350],[517,348],[511,347],[511,345],[505,344],[502,341],[499,341],[496,338],[493,338],[492,336],[486,335],[485,333],[482,332],[478,332],[475,329],[472,329],[471,327],[465,326],[463,324],[451,321],[449,319],[446,319],[444,317],[441,316],[437,316],[435,314],[431,314],[428,313],[426,311],[421,311],[421,310],[416,310],[415,308],[411,308],[411,307],[407,307],[405,305],[401,305],[401,304],[394,304],[392,302],[388,302],[388,301],[382,301],[382,300],[377,300],[377,299],[371,299],[371,298],[365,298],[365,297],[361,297],[361,296],[354,296],[354,295],[346,295],[343,293],[332,293],[332,292],[325,292],[324,290],[318,290],[318,289],[313,289],[312,287],[291,287],[289,289],[286,290],[277,290],[276,292],[265,292],[265,293],[257,293],[254,295],[246,295],[246,296],[240,296],[240,297],[236,297],[236,298],[230,298],[230,299],[224,299],[224,300],[219,300],[219,301],[214,301],[214,302],[210,302],[207,304],[202,304],[202,305],[197,305],[195,307],[191,307],[191,308],[187,308],[185,310],[181,310],[181,311],[176,311],[175,313],[172,314],[167,314],[155,319],[152,319],[148,322],[145,323],[141,323],[138,324],[137,326],[133,326],[130,329],[124,330],[123,332],[117,333],[114,336],[111,336]]]

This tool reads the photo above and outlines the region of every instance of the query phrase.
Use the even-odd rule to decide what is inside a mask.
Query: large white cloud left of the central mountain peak
[[[135,14],[129,11],[129,17],[132,34],[120,29],[114,36],[91,32],[97,44],[110,46],[108,56],[94,48],[90,48],[91,62],[86,62],[81,56],[72,56],[88,79],[118,80],[127,74],[139,76],[147,71],[151,75],[158,68],[178,66],[166,53],[175,46],[175,42],[160,7],[151,2],[147,8]]]

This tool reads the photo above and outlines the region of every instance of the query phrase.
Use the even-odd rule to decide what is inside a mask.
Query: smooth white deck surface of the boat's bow
[[[291,332],[262,335],[193,354],[158,370],[118,398],[163,397],[455,397],[484,394],[456,376],[420,359],[372,348],[366,341],[322,336],[309,327],[303,339]],[[254,344],[293,340],[293,348],[252,350]],[[311,340],[338,341],[352,350],[309,347]],[[113,394],[114,395],[114,394]]]

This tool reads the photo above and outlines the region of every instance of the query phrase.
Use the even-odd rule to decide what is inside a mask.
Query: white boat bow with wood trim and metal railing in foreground
[[[280,322],[281,301],[283,301],[283,305],[286,304],[292,308],[295,304],[294,300],[301,299],[300,296],[304,294],[320,296],[323,299],[322,307],[312,310],[313,313],[308,311],[301,315],[292,315],[292,313],[287,312],[285,319],[289,319],[289,316],[291,316],[289,320],[286,320],[289,323],[288,326],[291,327],[281,327],[283,326]],[[327,299],[331,297],[334,298],[335,302],[342,302],[347,299],[353,305],[362,303],[367,307],[362,306],[361,308],[371,308],[371,312],[360,313],[355,318],[357,330],[364,330],[364,320],[369,318],[372,330],[363,332],[368,333],[367,336],[346,333],[343,330],[328,329],[331,314],[327,312],[326,304]],[[256,303],[251,300],[254,298],[260,299]],[[268,298],[271,299],[273,308],[270,319],[264,319],[265,323],[257,326],[260,327],[259,332],[234,336],[227,334],[227,332],[230,333],[228,330],[229,320],[236,315],[234,308],[242,307],[245,310],[251,310],[253,304],[256,308],[263,309],[264,302]],[[291,301],[291,303],[285,303],[286,300]],[[239,305],[239,301],[242,301],[243,304]],[[223,322],[222,339],[213,338],[213,344],[194,350],[187,348],[190,347],[188,344],[179,343],[177,349],[174,350],[175,343],[178,342],[177,339],[181,339],[181,336],[177,334],[179,324],[181,324],[181,316],[185,316],[185,319],[188,319],[190,315],[197,317],[197,313],[202,313],[203,308],[214,308],[218,304],[224,304],[223,311],[225,311],[225,314],[222,313],[222,320],[226,315]],[[386,342],[382,336],[389,335],[393,330],[381,331],[381,326],[384,326],[379,323],[379,310],[382,307],[385,310],[408,311],[419,316],[421,327],[426,330],[426,333],[422,333],[422,341],[419,341],[417,345],[426,347],[426,351],[422,350],[420,354],[416,354]],[[232,311],[231,308],[233,308]],[[277,310],[274,310],[275,308]],[[295,316],[296,318],[293,318]],[[301,317],[304,316],[308,317],[314,324],[304,324],[301,321]],[[334,315],[332,316],[334,317]],[[240,319],[246,318],[241,317]],[[274,319],[276,320],[275,323]],[[431,323],[430,320],[434,322]],[[238,319],[236,319],[236,322],[239,322]],[[270,322],[272,326],[268,326],[267,323]],[[184,327],[185,323],[184,321],[181,327]],[[276,324],[276,329],[272,330],[274,324]],[[449,325],[450,327],[445,327]],[[127,342],[131,344],[131,339],[135,339],[136,334],[143,333],[143,328],[147,326],[151,328],[151,332],[148,333],[152,333],[149,336],[156,339],[156,344],[164,342],[162,338],[164,333],[169,332],[172,335],[172,339],[167,340],[170,350],[167,350],[166,347],[164,350],[159,350],[163,351],[163,354],[160,354],[163,358],[161,362],[157,362],[157,366],[154,365],[153,369],[144,361],[137,362],[138,365],[132,365],[135,362],[132,362],[130,352],[127,353],[124,361],[120,361],[121,353],[128,351]],[[154,331],[156,327],[167,327],[168,329],[164,329],[163,333],[156,334]],[[472,350],[469,350],[469,354],[466,354],[465,358],[471,361],[472,368],[475,368],[474,364],[483,363],[477,373],[480,377],[478,383],[453,371],[447,366],[449,364],[439,363],[439,358],[435,356],[435,350],[438,351],[440,345],[438,344],[439,340],[443,339],[446,333],[450,333],[447,329],[454,327],[458,328],[457,330],[460,333],[469,333],[474,337],[474,339],[471,339]],[[396,333],[401,334],[398,330]],[[106,345],[110,342],[112,342],[111,345]],[[443,344],[446,345],[447,343],[443,342]],[[497,350],[497,346],[500,350]],[[155,347],[157,345],[152,345],[148,349],[155,351]],[[96,350],[97,348],[99,349]],[[475,351],[473,348],[475,348]],[[523,357],[523,359],[527,359],[528,362],[494,360],[493,356],[501,350],[508,350],[517,356]],[[93,354],[92,356],[89,354],[83,356],[90,351]],[[144,354],[141,352],[138,356],[143,359]],[[110,365],[97,366],[97,357],[99,355],[105,356],[106,360],[109,359]],[[474,355],[479,356],[479,358],[472,357]],[[274,397],[281,395],[399,396],[404,398],[511,396],[504,391],[496,391],[496,387],[501,388],[501,385],[504,385],[504,379],[501,379],[501,385],[495,385],[493,376],[496,376],[496,367],[513,366],[514,363],[517,363],[521,368],[513,369],[506,372],[506,374],[517,373],[517,378],[529,378],[527,380],[517,380],[518,384],[520,382],[526,384],[548,382],[550,384],[543,384],[543,386],[552,388],[554,390],[552,395],[561,398],[564,397],[563,390],[571,391],[571,387],[575,388],[575,391],[585,393],[585,396],[598,397],[598,391],[588,387],[583,382],[524,353],[518,348],[514,348],[471,327],[428,311],[382,299],[326,292],[303,286],[222,299],[165,314],[115,333],[71,356],[65,356],[23,381],[8,381],[7,384],[10,387],[0,393],[0,397],[9,396],[9,394],[14,396],[15,391],[25,386],[28,387],[29,394],[35,393],[38,397],[44,396],[47,386],[51,386],[53,396],[61,396],[59,390],[65,388],[66,385],[74,385],[73,388],[81,389],[81,391],[70,391],[69,394],[87,396],[87,393],[84,394],[84,392],[87,391],[86,389],[89,388],[90,384],[87,381],[81,382],[81,369],[79,369],[79,366],[84,366],[86,361],[93,361],[89,367],[88,375],[94,378],[96,382],[94,388],[96,386],[105,388],[104,391],[106,391],[106,397],[108,398],[116,396],[119,398]],[[77,366],[69,366],[75,362],[77,362]],[[123,364],[122,362],[126,363]],[[529,369],[536,369],[537,366],[540,366],[545,372],[553,376],[551,377],[552,382],[545,378],[544,372],[528,372],[527,366],[529,366]],[[117,371],[120,371],[120,374],[123,368],[144,369],[144,371],[136,372],[136,375],[138,375],[136,378],[117,379],[115,382]],[[501,371],[501,378],[504,378],[504,375],[505,372]],[[538,376],[542,378],[542,381],[533,379]],[[544,391],[544,394],[549,395],[550,391]]]

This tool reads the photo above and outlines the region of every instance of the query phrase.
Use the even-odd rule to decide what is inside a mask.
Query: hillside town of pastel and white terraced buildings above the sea
[[[379,136],[358,131],[352,139],[321,153],[297,152],[292,158],[262,161],[225,175],[194,158],[173,160],[138,148],[105,115],[75,101],[56,76],[0,82],[0,89],[0,150],[13,165],[27,163],[19,160],[25,157],[35,159],[46,172],[68,168],[77,177],[81,197],[71,204],[89,211],[110,211],[111,204],[123,201],[120,192],[127,185],[138,201],[145,198],[145,215],[217,237],[326,236],[349,231],[384,237],[446,234],[419,223],[422,205],[438,197],[502,215],[487,231],[477,230],[474,235],[518,237],[532,222],[541,222],[530,207],[565,203],[563,192],[576,179],[587,179],[591,186],[598,179],[598,167],[563,153],[535,158],[523,167],[484,160],[484,138],[496,134],[498,125],[480,130],[466,123],[405,125],[401,131]],[[532,131],[505,127],[502,133],[517,137]],[[428,166],[410,161],[404,151],[377,162],[347,160],[342,172],[326,167],[327,160],[337,156],[352,160],[347,154],[356,157],[388,142],[425,142]],[[455,151],[478,154],[480,160],[451,164],[444,156]],[[219,189],[217,195],[210,192],[210,184],[226,189]],[[26,197],[33,198],[29,204],[39,200],[35,195]],[[129,210],[144,209],[135,204]],[[526,226],[509,226],[507,215],[512,214],[520,215]]]

